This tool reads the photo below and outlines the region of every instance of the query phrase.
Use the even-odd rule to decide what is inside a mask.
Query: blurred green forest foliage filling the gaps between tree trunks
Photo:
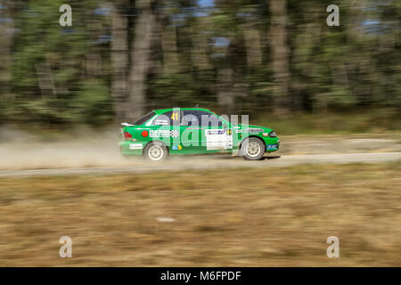
[[[12,79],[6,86],[1,83],[0,119],[46,124],[98,124],[112,119],[116,77],[110,61],[113,23],[108,10],[102,10],[108,2],[71,1],[71,28],[58,22],[59,7],[65,4],[62,0],[7,3],[4,7],[13,7],[6,17],[12,17],[15,33],[10,50],[0,55],[12,61]],[[206,10],[199,10],[196,3],[165,1],[156,5],[163,16],[152,35],[148,109],[198,103],[217,109],[218,92],[225,80],[219,71],[229,69],[232,77],[223,83],[235,96],[235,112],[275,110],[269,1],[214,1],[214,7]],[[359,110],[363,106],[399,110],[399,1],[364,0],[353,6],[340,0],[336,3],[340,27],[326,25],[329,4],[328,0],[287,0],[289,109],[301,113]],[[127,35],[128,78],[137,64],[131,61],[138,13],[133,9],[135,1],[121,0],[116,5],[127,20],[126,29],[118,31]],[[95,12],[99,9],[103,12]],[[0,28],[4,17],[2,8]],[[167,42],[168,48],[176,50],[168,53],[175,53],[179,65],[168,72],[162,66],[166,46],[160,39],[167,27],[175,27],[168,34],[175,37]],[[259,46],[247,44],[249,30],[258,34]],[[218,37],[229,45],[217,45]],[[166,43],[166,38],[163,40]],[[256,66],[247,58],[252,47],[262,58]],[[197,64],[200,59],[207,61],[202,67]]]

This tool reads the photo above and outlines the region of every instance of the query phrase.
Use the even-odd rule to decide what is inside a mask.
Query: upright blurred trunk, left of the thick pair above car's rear
[[[122,4],[127,4],[123,1]],[[128,71],[128,23],[114,3],[109,3],[113,41],[111,41],[111,64],[113,83],[111,86],[114,101],[115,119],[121,122],[126,118],[127,71]]]

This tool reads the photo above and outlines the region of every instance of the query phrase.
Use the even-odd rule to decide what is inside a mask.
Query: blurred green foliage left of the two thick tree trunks
[[[104,19],[87,17],[95,7],[87,1],[72,4],[73,27],[61,27],[61,4],[29,1],[17,14],[20,33],[12,53],[11,82],[15,120],[61,124],[110,118],[108,83],[85,69],[87,59],[96,53],[88,37],[90,27]]]

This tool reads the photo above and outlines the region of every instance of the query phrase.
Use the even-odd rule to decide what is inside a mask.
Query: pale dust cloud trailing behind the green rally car
[[[59,167],[123,167],[143,163],[119,153],[119,128],[78,128],[56,137],[0,127],[0,170]]]

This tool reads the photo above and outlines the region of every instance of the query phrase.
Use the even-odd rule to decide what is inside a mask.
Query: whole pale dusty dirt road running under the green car
[[[220,167],[281,167],[316,163],[382,162],[401,159],[399,136],[326,135],[282,137],[280,151],[261,161],[245,161],[231,155],[175,157],[161,164],[119,155],[114,133],[78,136],[74,140],[42,142],[20,135],[0,141],[0,177],[35,175],[102,175],[162,170],[215,169]],[[2,136],[4,139],[4,135]]]

